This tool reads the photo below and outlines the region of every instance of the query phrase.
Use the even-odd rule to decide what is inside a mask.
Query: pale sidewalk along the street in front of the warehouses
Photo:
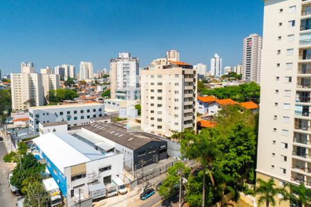
[[[146,183],[144,183],[145,188],[155,188],[156,185],[162,181],[165,177],[167,177],[166,173],[155,177]],[[117,195],[115,197],[109,197],[107,199],[103,199],[94,203],[93,207],[100,207],[100,206],[118,206],[118,207],[126,207],[126,206],[135,206],[135,201],[140,199],[140,194],[142,193],[142,184],[135,187],[134,190],[126,193],[125,195]]]

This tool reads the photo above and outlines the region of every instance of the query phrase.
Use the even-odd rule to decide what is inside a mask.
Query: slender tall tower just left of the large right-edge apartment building
[[[261,81],[262,41],[258,34],[249,34],[243,40],[243,81]]]

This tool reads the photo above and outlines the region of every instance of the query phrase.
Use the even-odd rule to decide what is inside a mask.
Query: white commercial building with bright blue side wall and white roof
[[[94,185],[100,186],[104,197],[105,185],[111,177],[122,177],[123,154],[103,154],[72,135],[50,132],[35,139],[37,153],[46,160],[46,168],[66,198],[67,206],[89,199]],[[98,195],[97,195],[98,196]]]

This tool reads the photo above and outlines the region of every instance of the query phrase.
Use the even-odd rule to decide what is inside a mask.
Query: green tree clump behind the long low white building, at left
[[[79,97],[75,90],[59,88],[57,90],[50,90],[47,99],[51,103],[59,103],[64,100],[73,100]]]

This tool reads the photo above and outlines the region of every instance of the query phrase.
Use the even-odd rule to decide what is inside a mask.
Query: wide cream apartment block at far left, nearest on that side
[[[25,71],[25,70],[24,70]],[[11,73],[12,110],[28,108],[26,101],[33,101],[35,106],[44,105],[42,75],[39,73]]]

